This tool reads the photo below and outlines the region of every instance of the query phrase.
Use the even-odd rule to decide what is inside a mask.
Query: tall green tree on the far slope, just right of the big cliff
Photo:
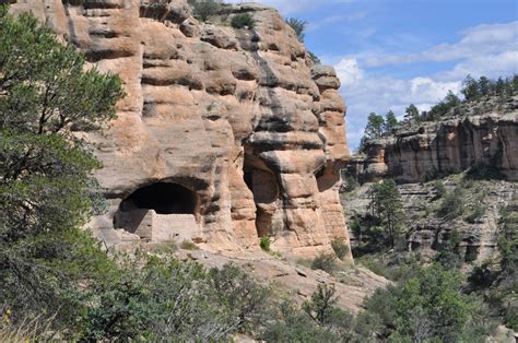
[[[384,225],[389,246],[393,248],[396,236],[400,233],[403,222],[403,204],[398,186],[392,179],[374,184],[370,186],[369,196],[373,215]]]

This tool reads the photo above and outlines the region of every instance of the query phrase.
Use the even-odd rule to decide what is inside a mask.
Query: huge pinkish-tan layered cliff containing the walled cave
[[[101,238],[169,237],[164,223],[188,214],[195,221],[174,236],[214,250],[257,249],[262,235],[305,256],[349,241],[340,81],[313,66],[275,10],[224,8],[227,22],[250,14],[250,29],[199,23],[185,0],[28,0],[12,10],[33,11],[123,81],[118,119],[87,135],[109,204],[91,223]]]

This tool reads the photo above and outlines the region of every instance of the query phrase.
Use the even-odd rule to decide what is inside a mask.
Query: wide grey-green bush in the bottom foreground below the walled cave
[[[86,289],[81,341],[225,341],[267,317],[271,291],[234,264],[138,253]],[[136,265],[141,265],[137,267]]]

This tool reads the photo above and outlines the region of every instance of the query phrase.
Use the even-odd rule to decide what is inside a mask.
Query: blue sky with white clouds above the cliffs
[[[240,2],[234,0],[233,2]],[[518,0],[259,0],[309,23],[306,46],[334,66],[354,150],[370,111],[429,108],[468,73],[518,72]]]

